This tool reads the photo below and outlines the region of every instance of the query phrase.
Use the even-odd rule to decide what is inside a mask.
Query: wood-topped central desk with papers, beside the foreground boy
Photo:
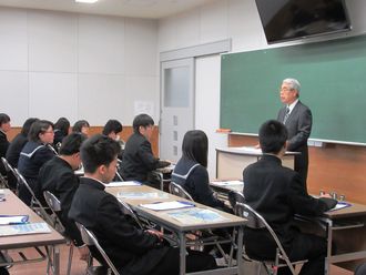
[[[200,223],[200,224],[182,224],[179,221],[172,218],[166,213],[172,211],[152,211],[144,207],[141,207],[140,204],[143,203],[153,203],[156,201],[186,201],[182,197],[174,196],[172,194],[167,194],[165,192],[159,191],[156,189],[152,189],[146,185],[140,185],[140,186],[124,186],[124,187],[106,187],[106,192],[111,193],[114,196],[118,196],[120,192],[135,192],[135,193],[157,193],[162,194],[162,197],[160,198],[123,198],[124,202],[131,205],[131,207],[138,213],[138,215],[143,216],[144,218],[152,221],[153,223],[156,223],[172,232],[174,232],[179,236],[180,241],[180,274],[185,274],[185,248],[186,248],[186,240],[185,234],[191,231],[200,231],[200,230],[206,230],[206,228],[222,228],[222,227],[238,227],[238,236],[237,236],[237,244],[243,243],[243,226],[245,223],[244,218],[241,218],[238,216],[234,216],[231,214],[227,214],[225,212],[216,211],[214,208],[211,208],[209,206],[195,203],[196,206],[200,208],[210,208],[212,211],[217,212],[221,216],[227,218],[223,222],[211,222],[211,223]],[[174,210],[175,212],[176,210]],[[237,246],[237,255],[242,255],[242,245]],[[242,265],[242,257],[237,256],[237,266],[234,267],[225,267],[225,268],[218,268],[214,271],[205,271],[204,273],[197,273],[197,274],[240,274],[240,268]]]

